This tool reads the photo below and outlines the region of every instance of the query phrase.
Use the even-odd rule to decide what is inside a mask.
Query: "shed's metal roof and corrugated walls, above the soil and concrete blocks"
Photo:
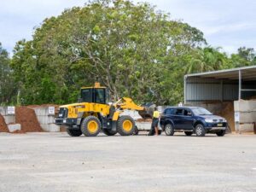
[[[256,96],[256,66],[184,76],[184,103],[236,101]]]

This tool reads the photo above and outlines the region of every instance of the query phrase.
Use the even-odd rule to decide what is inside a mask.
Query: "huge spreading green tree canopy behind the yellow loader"
[[[75,102],[96,81],[115,99],[174,104],[183,100],[185,73],[238,67],[238,59],[148,3],[96,0],[44,20],[31,41],[16,44],[11,66],[23,104]]]

